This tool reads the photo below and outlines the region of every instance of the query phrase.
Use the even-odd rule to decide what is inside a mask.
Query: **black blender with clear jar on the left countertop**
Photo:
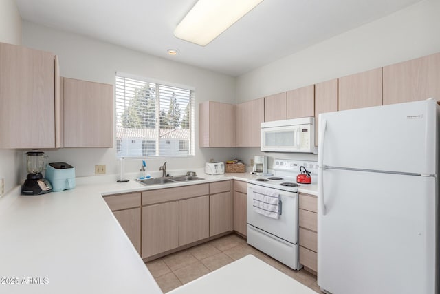
[[[41,171],[45,165],[44,152],[34,150],[26,154],[28,162],[28,177],[21,186],[21,195],[40,195],[52,191],[50,182],[43,178]]]

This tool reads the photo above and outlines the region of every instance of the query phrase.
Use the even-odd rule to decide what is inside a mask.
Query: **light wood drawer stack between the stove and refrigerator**
[[[318,274],[318,202],[316,196],[300,193],[299,201],[299,243],[300,264]]]

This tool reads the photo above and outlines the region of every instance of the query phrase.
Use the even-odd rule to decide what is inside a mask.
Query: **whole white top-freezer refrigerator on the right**
[[[320,114],[318,285],[439,293],[434,99]]]

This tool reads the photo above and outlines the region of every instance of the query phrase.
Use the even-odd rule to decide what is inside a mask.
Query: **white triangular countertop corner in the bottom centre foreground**
[[[276,293],[316,294],[307,286],[281,273],[278,269],[246,255],[197,280],[184,284],[172,294]]]

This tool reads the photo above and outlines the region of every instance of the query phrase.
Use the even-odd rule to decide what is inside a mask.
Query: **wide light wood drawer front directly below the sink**
[[[190,197],[204,196],[209,193],[208,184],[173,187],[142,192],[142,205],[181,200]]]

